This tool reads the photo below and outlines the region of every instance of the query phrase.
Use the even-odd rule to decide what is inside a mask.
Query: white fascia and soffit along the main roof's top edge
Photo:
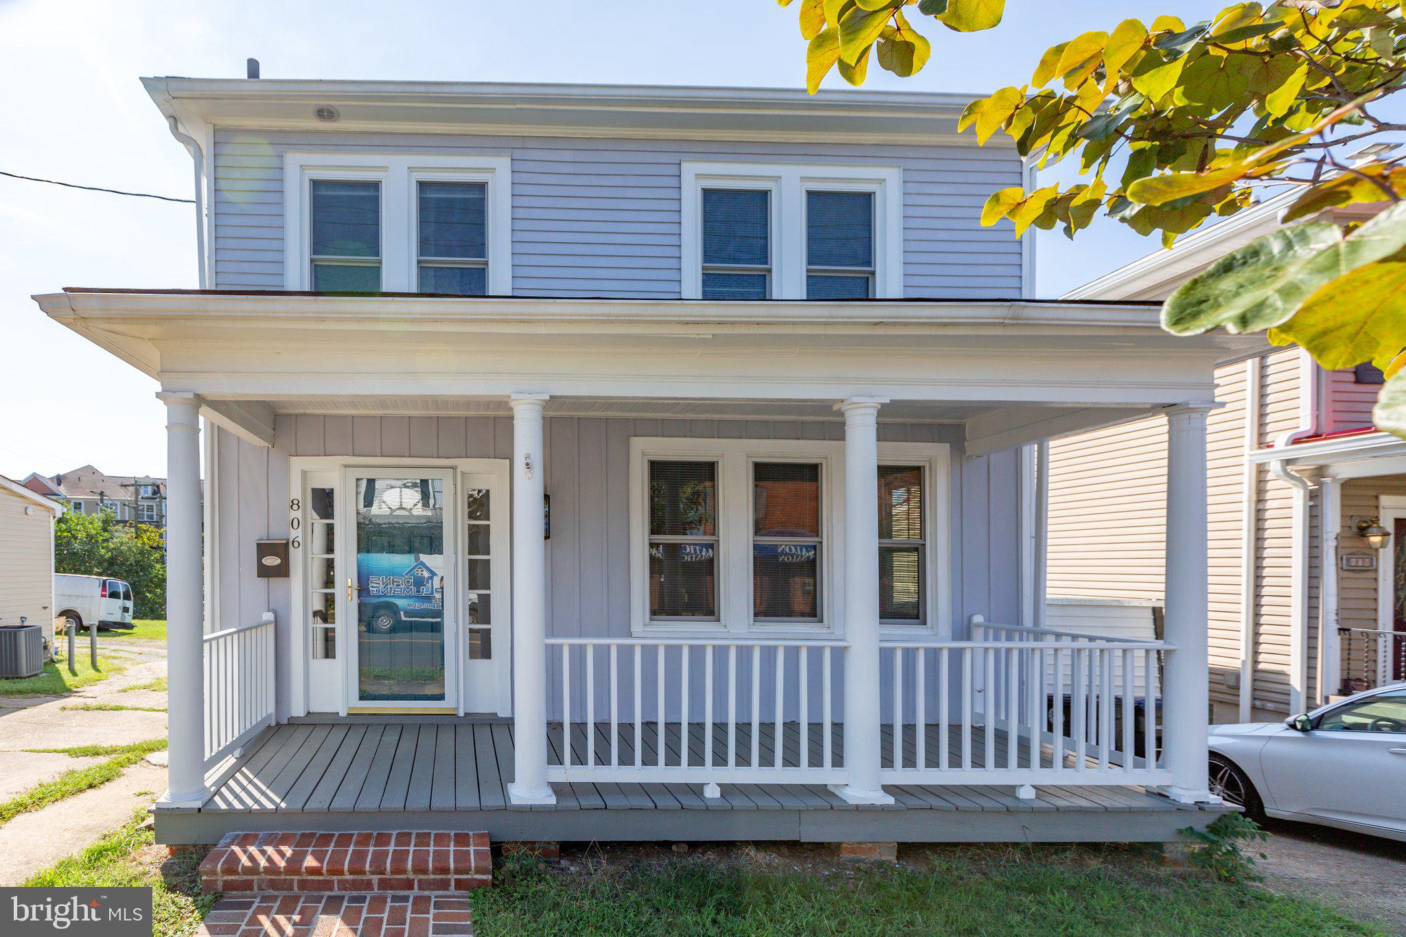
[[[508,84],[471,81],[142,80],[165,114],[266,129],[942,142],[976,146],[956,121],[974,97],[912,91]],[[340,119],[322,122],[329,104]],[[997,146],[1011,146],[1000,140]]]

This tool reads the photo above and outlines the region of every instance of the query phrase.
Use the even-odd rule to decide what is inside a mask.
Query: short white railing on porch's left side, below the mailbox
[[[273,725],[274,614],[204,636],[205,767]]]

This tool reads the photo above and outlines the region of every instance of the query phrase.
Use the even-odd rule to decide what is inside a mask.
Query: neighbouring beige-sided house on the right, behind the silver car
[[[1163,299],[1279,225],[1295,192],[1069,294]],[[1406,679],[1406,443],[1372,428],[1382,375],[1324,371],[1264,344],[1216,369],[1208,431],[1211,697],[1220,722],[1281,718]],[[1049,447],[1049,615],[1091,603],[1122,620],[1166,593],[1164,434],[1156,420]],[[1360,530],[1392,534],[1374,549]],[[1150,617],[1147,618],[1150,621]],[[1320,676],[1323,674],[1323,676]]]

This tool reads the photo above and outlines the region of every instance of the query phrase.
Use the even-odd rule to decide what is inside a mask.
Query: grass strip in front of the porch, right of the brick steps
[[[555,871],[513,857],[472,892],[492,934],[1376,934],[1308,900],[1147,850],[936,848],[918,864],[792,871],[688,858]]]

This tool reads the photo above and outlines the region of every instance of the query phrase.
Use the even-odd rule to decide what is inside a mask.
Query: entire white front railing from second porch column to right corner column
[[[1171,645],[980,621],[973,638],[882,645],[884,784],[1171,781],[1157,766]],[[844,642],[547,646],[551,781],[848,781]]]

